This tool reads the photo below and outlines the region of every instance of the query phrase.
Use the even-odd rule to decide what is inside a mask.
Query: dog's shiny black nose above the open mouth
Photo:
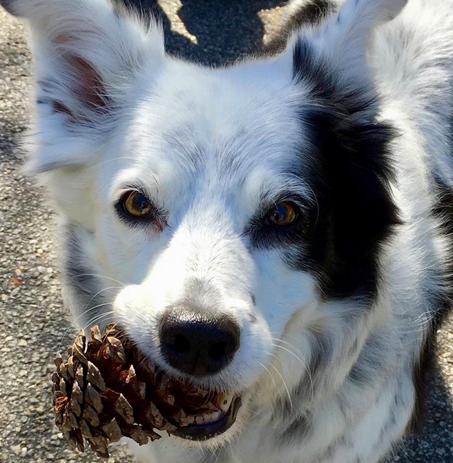
[[[240,327],[227,315],[171,308],[160,322],[161,351],[168,364],[189,375],[212,375],[231,362]]]

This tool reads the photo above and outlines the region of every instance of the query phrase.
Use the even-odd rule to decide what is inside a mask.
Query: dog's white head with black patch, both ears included
[[[348,0],[222,69],[166,56],[155,24],[107,0],[5,3],[30,26],[30,168],[66,217],[81,324],[115,320],[166,373],[225,392],[182,437],[225,431],[240,397],[246,416],[263,372],[300,384],[376,297],[397,221],[365,55],[405,1]]]

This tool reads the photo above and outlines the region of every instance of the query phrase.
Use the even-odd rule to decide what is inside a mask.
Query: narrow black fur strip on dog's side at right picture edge
[[[436,179],[437,201],[432,214],[441,223],[443,233],[451,243],[453,249],[453,190],[441,181]],[[445,322],[445,319],[452,311],[453,305],[453,264],[450,263],[444,269],[445,272],[445,293],[442,295],[428,295],[434,300],[434,314],[430,321],[428,334],[423,344],[420,358],[414,365],[412,378],[415,387],[415,407],[408,431],[421,433],[425,421],[425,403],[430,395],[428,388],[429,380],[434,374],[435,354],[437,350],[437,331]]]

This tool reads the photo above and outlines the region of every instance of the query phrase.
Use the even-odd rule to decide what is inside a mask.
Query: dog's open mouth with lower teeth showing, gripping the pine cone
[[[201,388],[166,375],[160,377],[155,402],[164,418],[176,429],[173,435],[189,440],[208,440],[235,423],[241,397],[232,391]]]

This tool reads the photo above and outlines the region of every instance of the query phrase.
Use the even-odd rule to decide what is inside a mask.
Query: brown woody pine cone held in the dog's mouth
[[[104,334],[98,326],[90,331],[88,342],[84,331],[79,333],[67,359],[57,355],[52,375],[55,423],[74,449],[83,452],[86,440],[99,456],[108,457],[108,443],[122,436],[142,445],[161,437],[154,429],[169,432],[186,425],[168,388],[171,380],[156,373],[114,324]],[[200,402],[204,391],[192,395]]]

